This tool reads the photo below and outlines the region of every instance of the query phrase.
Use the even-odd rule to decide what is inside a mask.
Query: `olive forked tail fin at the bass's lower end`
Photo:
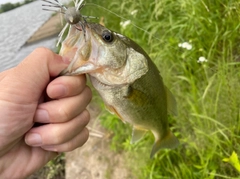
[[[165,135],[163,138],[158,139],[155,144],[153,145],[152,152],[150,157],[153,156],[160,150],[160,149],[174,149],[179,145],[178,139],[175,135],[169,130],[168,134]]]

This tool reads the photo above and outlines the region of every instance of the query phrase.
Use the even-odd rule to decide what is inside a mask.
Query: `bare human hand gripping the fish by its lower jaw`
[[[68,63],[39,48],[0,73],[0,178],[26,178],[87,141],[91,91],[84,75],[57,77]]]

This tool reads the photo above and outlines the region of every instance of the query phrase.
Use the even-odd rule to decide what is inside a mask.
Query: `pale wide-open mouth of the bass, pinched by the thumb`
[[[86,25],[84,29],[71,26],[68,36],[62,42],[59,54],[69,59],[70,64],[64,69],[62,75],[80,75],[94,72],[100,67],[90,60],[92,44],[91,44],[91,28]]]

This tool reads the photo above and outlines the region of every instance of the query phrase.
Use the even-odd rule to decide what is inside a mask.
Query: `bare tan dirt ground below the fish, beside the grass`
[[[66,153],[66,179],[134,179],[121,154],[109,148],[110,134],[99,124],[100,108],[89,106],[90,138],[81,148]]]

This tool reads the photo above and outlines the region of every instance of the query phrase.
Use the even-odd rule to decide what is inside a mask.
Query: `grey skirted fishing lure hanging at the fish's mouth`
[[[48,3],[48,4],[42,4],[42,6],[44,7],[43,10],[60,12],[60,13],[64,14],[64,18],[67,22],[67,24],[64,26],[64,28],[58,35],[59,39],[58,39],[57,46],[62,41],[62,36],[69,25],[73,25],[73,26],[75,26],[76,29],[83,31],[84,36],[85,36],[85,34],[86,34],[85,28],[87,26],[87,19],[96,18],[93,16],[85,16],[80,13],[81,9],[85,6],[85,3],[83,3],[84,0],[73,1],[75,4],[74,7],[67,7],[67,6],[63,5],[62,3],[60,3],[58,0],[53,0],[54,2],[52,2],[51,0],[42,0],[42,1]],[[59,10],[56,10],[54,8],[57,8]]]

